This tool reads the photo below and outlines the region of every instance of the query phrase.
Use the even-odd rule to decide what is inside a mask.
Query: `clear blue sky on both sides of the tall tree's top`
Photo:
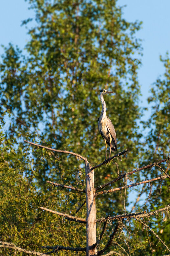
[[[143,96],[139,105],[147,106],[149,88],[156,78],[164,73],[159,60],[160,54],[165,56],[170,52],[170,1],[169,0],[118,0],[118,5],[124,8],[124,18],[127,21],[143,21],[143,29],[136,36],[143,40],[142,66],[139,69],[139,83]],[[28,10],[29,4],[24,0],[2,0],[0,2],[0,44],[9,42],[17,44],[21,49],[29,40],[27,29],[21,27],[21,21],[34,17],[34,12]],[[0,55],[3,49],[0,48]],[[147,119],[149,113],[145,115]]]

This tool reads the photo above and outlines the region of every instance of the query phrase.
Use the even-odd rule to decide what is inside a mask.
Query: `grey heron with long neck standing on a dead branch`
[[[102,89],[100,91],[100,100],[102,104],[102,112],[101,115],[98,119],[98,127],[99,127],[99,132],[103,139],[105,140],[105,160],[107,156],[107,144],[110,146],[110,153],[109,153],[109,158],[111,155],[111,151],[117,151],[117,140],[116,140],[116,132],[114,129],[114,126],[111,122],[111,120],[106,116],[106,104],[103,98],[103,95],[109,94],[109,93],[114,93],[112,91],[107,91],[105,89]]]

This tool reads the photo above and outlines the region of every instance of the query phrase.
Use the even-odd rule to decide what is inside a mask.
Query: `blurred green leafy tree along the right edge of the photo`
[[[151,96],[148,98],[148,103],[152,105],[152,114],[144,125],[144,128],[149,128],[149,134],[146,138],[145,163],[148,163],[148,160],[156,162],[170,155],[170,60],[168,53],[165,58],[160,57],[160,60],[165,67],[165,73],[153,84]],[[154,167],[152,172],[145,172],[144,174],[154,178],[168,173],[170,163],[167,162],[161,166],[163,169]],[[164,180],[162,184],[153,183],[153,193],[147,207],[155,209],[169,204],[169,186],[169,179]],[[157,218],[152,228],[169,245],[167,230],[170,228],[170,221],[167,216]],[[154,241],[154,236],[151,235],[151,237],[151,240]],[[155,255],[162,255],[160,243],[156,246],[155,252]]]

